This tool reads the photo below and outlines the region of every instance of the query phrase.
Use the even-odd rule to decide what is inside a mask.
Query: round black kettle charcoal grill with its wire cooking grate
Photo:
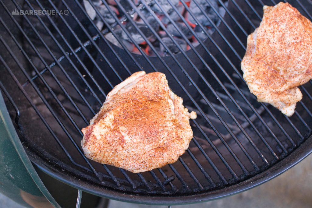
[[[205,38],[199,37],[173,1],[167,1],[167,6],[177,12],[179,22],[185,24],[192,38],[165,12],[162,4],[166,0],[114,1],[119,14],[110,6],[112,1],[104,0],[101,4],[113,21],[101,16],[98,1],[0,0],[0,87],[16,132],[35,166],[78,190],[98,196],[168,205],[207,201],[244,191],[279,175],[310,154],[312,82],[300,87],[303,99],[288,118],[271,105],[258,103],[240,70],[247,36],[259,26],[262,7],[278,2],[217,0],[218,7],[214,7],[209,0],[192,1],[197,6],[207,3],[217,17],[212,20],[198,7],[213,28],[208,31],[188,7],[189,2],[180,1],[184,12],[195,21],[193,27],[199,27]],[[127,7],[124,2],[128,2]],[[310,0],[288,2],[312,19]],[[188,48],[179,45],[151,3],[168,18]],[[221,7],[224,12],[219,12]],[[90,16],[90,8],[103,27]],[[68,15],[12,15],[14,9],[68,10]],[[142,9],[159,24],[162,34],[150,25]],[[146,25],[152,39],[158,39],[165,53],[159,52],[160,47],[145,36],[133,15]],[[145,47],[153,54],[142,49],[126,24],[142,36]],[[128,42],[115,31],[116,27]],[[105,36],[108,33],[118,44]],[[160,35],[170,39],[175,51]],[[129,49],[129,43],[135,51]],[[80,147],[80,129],[99,111],[106,94],[139,70],[166,74],[174,93],[198,117],[190,122],[194,138],[177,162],[134,174],[88,160]]]

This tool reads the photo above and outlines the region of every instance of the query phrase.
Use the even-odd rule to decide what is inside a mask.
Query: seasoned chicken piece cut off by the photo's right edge
[[[289,3],[263,7],[241,62],[250,92],[291,116],[302,99],[297,86],[312,78],[312,23]]]

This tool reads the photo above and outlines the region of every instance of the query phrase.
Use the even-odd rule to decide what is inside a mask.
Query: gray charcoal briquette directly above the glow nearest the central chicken
[[[152,31],[148,27],[146,27],[145,24],[137,24],[137,26],[147,38],[153,35]],[[131,34],[131,37],[136,43],[140,44],[145,41],[143,37],[139,34],[139,31],[130,22],[126,24],[126,29]],[[131,42],[131,39],[124,31],[122,31],[121,36],[123,39]]]

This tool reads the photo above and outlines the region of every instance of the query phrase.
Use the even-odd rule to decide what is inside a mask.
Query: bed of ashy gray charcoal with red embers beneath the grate
[[[197,0],[196,2],[192,0],[169,0],[174,7],[168,3],[168,0],[158,0],[159,6],[154,0],[145,0],[157,17],[155,19],[149,10],[141,4],[141,0],[131,0],[140,11],[139,14],[134,11],[133,5],[129,0],[106,0],[109,8],[102,3],[102,0],[92,1],[94,7],[97,8],[102,15],[102,18],[98,15],[93,18],[100,30],[104,30],[107,24],[112,25],[115,23],[111,15],[112,12],[121,20],[121,23],[131,35],[130,38],[120,25],[117,25],[113,28],[115,34],[110,32],[105,34],[105,37],[112,44],[121,47],[119,41],[122,41],[129,51],[135,54],[141,54],[140,50],[137,48],[138,46],[142,49],[142,52],[148,56],[155,56],[154,50],[161,56],[168,55],[168,51],[161,42],[163,42],[173,54],[180,52],[178,46],[169,36],[172,36],[184,51],[191,49],[189,44],[197,46],[199,44],[197,38],[200,40],[207,39],[207,34],[212,34],[214,31],[213,25],[217,25],[220,22],[214,10],[217,12],[219,12],[219,10],[220,12],[224,10],[224,8],[217,3],[218,0]],[[227,2],[225,4],[227,4]],[[121,7],[125,11],[122,11],[123,9],[121,9]],[[88,14],[93,14],[93,11],[88,11],[90,5],[85,5],[85,8]],[[191,11],[193,15],[189,13],[189,11]],[[135,25],[126,18],[124,12],[130,15]],[[169,17],[167,17],[165,13],[167,13]],[[146,25],[142,18],[144,21],[147,21],[150,26]],[[175,24],[173,24],[173,22]],[[176,27],[178,27],[181,33]],[[164,30],[165,28],[168,33]],[[204,28],[204,31],[202,28]],[[144,36],[140,34],[138,29],[142,31],[141,34]],[[152,29],[154,31],[152,31]],[[157,35],[155,35],[155,33]],[[154,50],[152,48],[154,48]]]

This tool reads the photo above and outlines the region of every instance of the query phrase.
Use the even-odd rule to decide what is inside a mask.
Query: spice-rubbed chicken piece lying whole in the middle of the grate
[[[138,173],[178,160],[193,138],[182,98],[159,72],[136,72],[107,95],[100,112],[82,129],[85,156]]]

